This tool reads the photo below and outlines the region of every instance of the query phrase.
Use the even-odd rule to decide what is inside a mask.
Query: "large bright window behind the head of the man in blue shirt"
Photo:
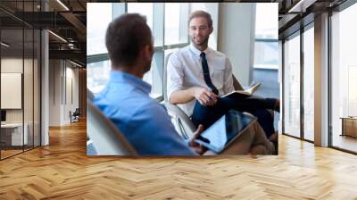
[[[103,10],[98,9],[97,4],[88,4],[87,87],[92,92],[98,93],[104,88],[105,83],[109,79],[111,63],[104,46],[104,35],[108,23],[115,17],[120,16],[122,13],[135,12],[145,16],[148,26],[153,31],[153,63],[151,70],[145,73],[144,80],[153,86],[151,96],[162,99],[162,70],[164,52],[166,50],[188,45],[188,4],[114,3],[101,4],[101,6],[108,11],[115,10],[116,12],[111,12],[103,19],[97,18],[95,13],[103,12]],[[89,26],[89,24],[92,24],[92,21],[94,21],[94,24]],[[102,29],[100,30],[102,31],[101,33],[91,30],[98,29],[99,26],[101,27],[100,29]],[[92,32],[93,34],[89,34],[89,32]],[[99,43],[102,44],[102,47],[98,47]],[[102,50],[99,51],[99,49]]]

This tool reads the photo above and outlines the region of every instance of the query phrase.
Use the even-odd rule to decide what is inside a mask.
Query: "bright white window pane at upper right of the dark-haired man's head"
[[[129,13],[140,13],[146,17],[147,25],[153,31],[153,3],[129,3]]]

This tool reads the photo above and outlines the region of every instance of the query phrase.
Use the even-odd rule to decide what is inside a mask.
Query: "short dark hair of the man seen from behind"
[[[126,13],[112,21],[105,34],[105,45],[112,65],[132,65],[143,46],[151,45],[152,34],[146,18]]]

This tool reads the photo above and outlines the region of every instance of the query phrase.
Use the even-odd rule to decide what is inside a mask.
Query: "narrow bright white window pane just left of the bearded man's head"
[[[179,3],[165,4],[165,45],[179,43]]]

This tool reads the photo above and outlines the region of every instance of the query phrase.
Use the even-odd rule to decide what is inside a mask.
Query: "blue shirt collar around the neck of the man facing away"
[[[137,78],[134,75],[131,75],[127,72],[123,71],[111,71],[110,82],[124,82],[129,83],[133,87],[137,87],[138,89],[145,92],[145,94],[149,95],[151,91],[151,85],[146,83],[144,80]]]

